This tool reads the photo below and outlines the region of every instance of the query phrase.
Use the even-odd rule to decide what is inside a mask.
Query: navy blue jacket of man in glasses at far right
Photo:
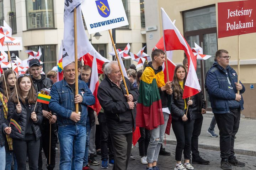
[[[230,67],[226,67],[228,72],[231,85],[237,93],[235,82],[238,81],[236,71]],[[240,82],[241,84],[241,82]],[[210,68],[206,75],[206,90],[210,97],[210,102],[212,106],[213,113],[230,113],[229,110],[229,100],[235,100],[236,95],[231,93],[228,89],[228,80],[226,78],[225,69],[221,67],[217,62],[213,63],[213,66]],[[242,90],[240,94],[245,92],[245,87],[242,85]],[[241,110],[244,109],[244,100],[241,98],[240,101]]]

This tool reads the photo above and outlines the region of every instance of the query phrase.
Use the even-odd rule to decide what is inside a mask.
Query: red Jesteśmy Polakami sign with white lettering
[[[256,0],[218,3],[218,38],[256,32]]]

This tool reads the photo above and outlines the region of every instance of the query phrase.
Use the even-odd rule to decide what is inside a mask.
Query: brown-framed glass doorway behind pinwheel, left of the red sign
[[[184,37],[190,47],[194,42],[203,48],[203,53],[211,55],[208,60],[197,60],[197,77],[206,98],[206,107],[211,111],[209,96],[204,89],[206,73],[214,63],[218,50],[215,5],[183,12]]]

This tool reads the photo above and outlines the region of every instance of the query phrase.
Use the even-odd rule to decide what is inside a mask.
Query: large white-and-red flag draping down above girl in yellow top
[[[166,51],[184,50],[188,58],[188,73],[183,98],[194,96],[201,91],[196,74],[196,57],[194,56],[185,38],[181,35],[180,31],[175,27],[169,16],[164,11],[164,8],[161,8],[161,13]]]

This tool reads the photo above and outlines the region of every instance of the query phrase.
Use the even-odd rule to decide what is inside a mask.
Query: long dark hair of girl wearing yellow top
[[[173,94],[174,94],[174,98],[176,100],[180,99],[182,97],[182,94],[183,94],[183,90],[181,89],[180,83],[179,83],[178,78],[177,78],[178,68],[183,68],[185,70],[185,78],[183,79],[183,89],[184,89],[186,78],[187,78],[187,72],[186,72],[185,67],[182,66],[182,65],[177,65],[174,69],[174,78],[172,80],[172,87],[174,88]]]

